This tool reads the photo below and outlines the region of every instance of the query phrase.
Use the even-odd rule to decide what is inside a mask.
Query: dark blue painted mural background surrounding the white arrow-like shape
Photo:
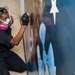
[[[43,21],[46,24],[46,49],[52,42],[56,75],[75,74],[75,1],[57,0],[54,25],[53,14],[49,13],[52,7],[51,0],[43,0]]]

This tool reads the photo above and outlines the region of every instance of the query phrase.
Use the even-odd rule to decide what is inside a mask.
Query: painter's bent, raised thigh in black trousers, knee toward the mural
[[[24,72],[27,70],[26,64],[16,53],[8,51],[7,54],[6,63],[10,71]]]

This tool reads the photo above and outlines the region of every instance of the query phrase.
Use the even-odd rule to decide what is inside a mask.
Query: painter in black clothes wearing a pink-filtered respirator
[[[27,13],[21,16],[22,25],[15,37],[12,37],[10,28],[13,22],[13,17],[9,16],[7,9],[0,7],[0,75],[10,75],[9,71],[27,70],[27,64],[10,49],[20,43],[28,25],[29,16]]]

